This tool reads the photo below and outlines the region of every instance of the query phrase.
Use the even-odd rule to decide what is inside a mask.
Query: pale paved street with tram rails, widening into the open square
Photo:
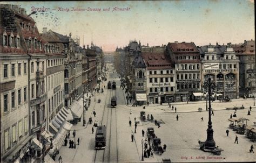
[[[71,132],[77,130],[77,138],[80,138],[80,145],[76,149],[71,149],[63,146],[60,149],[59,155],[62,155],[63,162],[140,162],[142,159],[142,129],[146,131],[147,127],[154,127],[156,136],[161,138],[161,145],[166,144],[166,152],[162,155],[154,153],[154,158],[144,158],[144,161],[161,161],[163,158],[170,158],[171,161],[253,161],[255,154],[249,152],[252,143],[245,135],[236,134],[230,129],[230,135],[227,137],[225,131],[228,129],[230,122],[228,118],[233,114],[233,110],[226,110],[226,107],[244,105],[246,109],[238,110],[237,116],[250,119],[248,125],[253,125],[255,122],[255,110],[253,100],[239,99],[233,102],[220,103],[215,101],[212,103],[214,116],[212,116],[214,140],[219,148],[224,151],[220,156],[212,153],[204,153],[199,150],[198,140],[206,140],[206,129],[208,121],[208,112],[205,111],[205,102],[179,102],[173,103],[177,107],[179,121],[176,121],[176,113],[172,111],[167,104],[151,104],[143,109],[142,106],[131,107],[125,104],[124,90],[120,89],[120,80],[116,73],[109,71],[110,77],[103,84],[107,85],[108,81],[115,80],[117,82],[116,91],[112,89],[104,89],[104,93],[96,93],[96,101],[100,98],[101,103],[92,103],[88,111],[86,111],[86,126],[82,126],[82,122],[73,125]],[[116,78],[115,78],[116,77]],[[108,104],[110,96],[116,94],[117,107],[109,108]],[[248,107],[252,106],[251,116],[247,116]],[[198,108],[203,108],[202,112],[198,112]],[[105,111],[104,111],[105,108]],[[96,117],[92,115],[95,109]],[[132,110],[132,114],[130,114]],[[140,121],[140,111],[146,111],[147,114],[152,114],[155,119],[161,121],[161,127],[158,129],[154,122]],[[111,112],[112,111],[112,112]],[[104,114],[104,115],[103,115]],[[92,117],[93,122],[98,121],[98,124],[106,124],[107,126],[107,144],[105,150],[95,150],[95,133],[92,134],[92,124],[88,124],[89,117]],[[134,133],[134,117],[139,121],[137,133]],[[204,121],[201,121],[201,117]],[[103,118],[103,121],[102,121]],[[129,120],[132,121],[132,126],[129,126]],[[111,125],[110,125],[111,124]],[[96,131],[96,127],[94,127]],[[111,133],[110,133],[111,131]],[[131,134],[134,134],[134,142],[131,141]],[[234,144],[235,135],[238,135],[239,144]],[[77,139],[76,138],[76,139]],[[73,138],[71,138],[73,139]],[[188,154],[189,153],[189,154]],[[56,158],[59,157],[57,155]],[[104,158],[103,158],[104,157]],[[56,159],[57,160],[57,159]],[[57,162],[57,161],[56,161]]]

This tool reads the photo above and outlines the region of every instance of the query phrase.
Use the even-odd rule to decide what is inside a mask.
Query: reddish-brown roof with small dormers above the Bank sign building
[[[142,52],[142,58],[145,60],[147,69],[170,69],[172,62],[165,53]]]

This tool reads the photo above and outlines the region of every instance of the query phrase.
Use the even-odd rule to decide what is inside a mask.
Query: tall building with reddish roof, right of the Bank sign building
[[[197,100],[196,93],[201,92],[201,63],[196,45],[193,42],[169,42],[166,52],[176,67],[175,101]]]

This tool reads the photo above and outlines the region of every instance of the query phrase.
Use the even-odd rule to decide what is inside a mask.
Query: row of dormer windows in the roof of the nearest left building
[[[21,47],[21,38],[19,36],[14,36],[14,34],[11,33],[11,35],[8,35],[6,33],[3,34],[3,46],[7,47]]]

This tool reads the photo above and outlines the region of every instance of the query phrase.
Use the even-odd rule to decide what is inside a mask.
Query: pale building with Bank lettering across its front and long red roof
[[[142,53],[147,66],[146,89],[149,103],[174,101],[175,70],[170,56],[162,53]]]

